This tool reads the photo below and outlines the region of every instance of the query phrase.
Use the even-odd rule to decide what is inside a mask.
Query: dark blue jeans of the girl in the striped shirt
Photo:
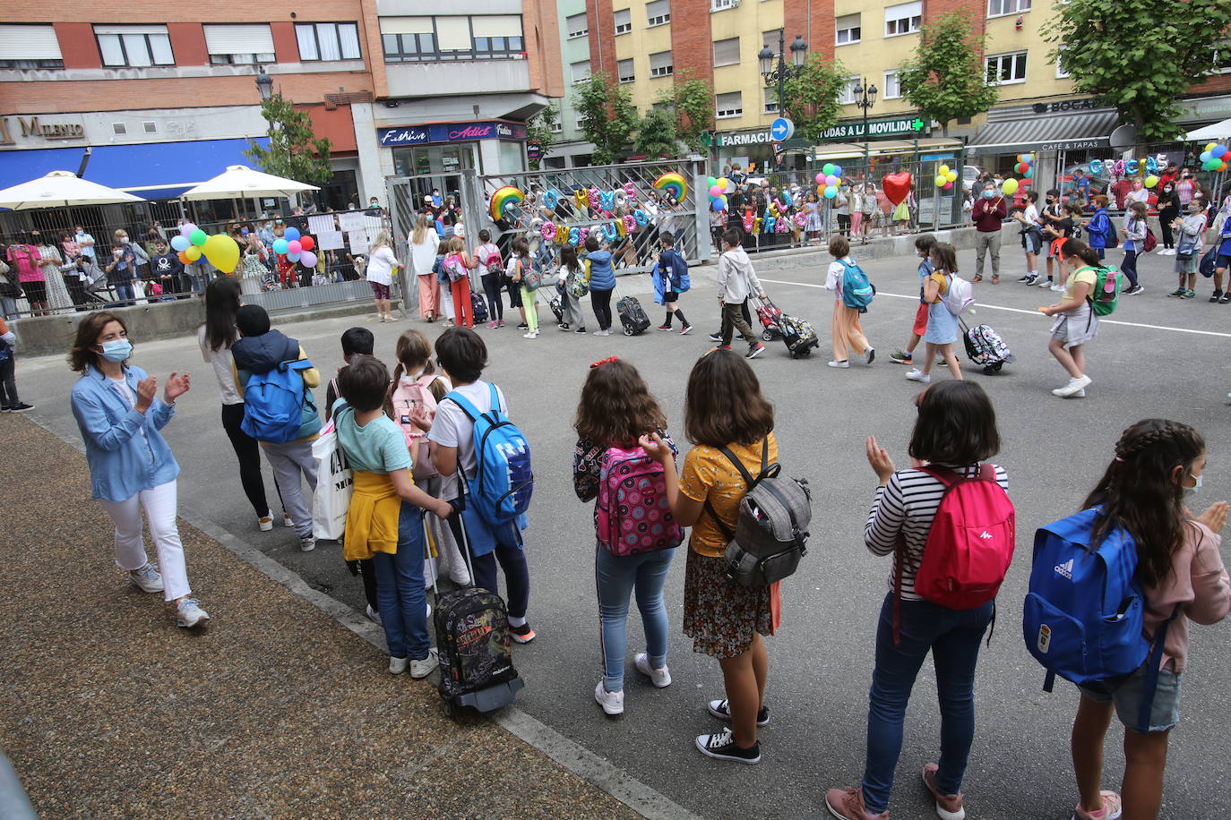
[[[940,771],[936,786],[956,794],[975,739],[975,663],[992,618],[992,602],[950,610],[931,601],[902,601],[900,637],[894,645],[894,594],[885,596],[876,627],[876,668],[868,693],[868,757],[863,799],[872,814],[889,808],[894,770],[902,750],[902,722],[915,677],[932,650],[940,701]]]

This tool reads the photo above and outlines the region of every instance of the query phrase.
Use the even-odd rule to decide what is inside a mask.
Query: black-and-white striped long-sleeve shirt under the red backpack
[[[974,476],[979,465],[948,467],[963,476]],[[996,467],[996,481],[1008,492],[1008,473],[1003,467]],[[868,551],[876,556],[888,556],[897,546],[897,536],[906,541],[906,566],[902,568],[902,599],[921,600],[915,594],[915,575],[923,559],[923,546],[927,543],[932,520],[940,507],[944,484],[920,470],[899,470],[884,487],[876,488],[876,500],[868,514],[868,525],[863,531],[863,542]],[[894,575],[897,572],[897,558],[889,573],[889,589],[894,589]]]

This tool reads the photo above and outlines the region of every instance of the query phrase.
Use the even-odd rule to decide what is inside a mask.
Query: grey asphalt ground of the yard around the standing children
[[[972,269],[971,257],[969,251],[959,257],[964,273]],[[1224,447],[1231,434],[1226,398],[1231,379],[1225,360],[1231,306],[1205,301],[1209,280],[1201,280],[1199,300],[1167,299],[1165,294],[1174,288],[1173,258],[1150,254],[1140,266],[1146,294],[1121,299],[1120,310],[1110,317],[1114,321],[1105,321],[1089,345],[1094,384],[1088,397],[1064,401],[1050,393],[1066,380],[1046,353],[1050,320],[1035,312],[1054,294],[1012,284],[1024,269],[1016,248],[1006,245],[1004,261],[1004,284],[976,288],[977,321],[1000,331],[1017,354],[1017,364],[997,376],[984,376],[975,368],[966,374],[996,403],[1004,445],[997,461],[1009,473],[1020,537],[1000,596],[995,637],[981,655],[977,736],[964,790],[972,818],[1054,820],[1069,818],[1076,802],[1067,736],[1077,695],[1064,682],[1055,693],[1044,693],[1043,671],[1022,642],[1022,600],[1034,529],[1077,508],[1112,456],[1120,430],[1144,417],[1179,419],[1200,429],[1210,445],[1210,461],[1198,504],[1227,498],[1231,459]],[[537,488],[526,535],[533,579],[531,622],[539,638],[517,652],[527,680],[518,704],[705,818],[816,818],[824,814],[826,788],[857,784],[862,773],[875,620],[890,569],[888,558],[870,556],[862,542],[875,487],[863,441],[875,435],[900,463],[906,461],[915,414],[911,400],[918,386],[904,379],[905,368],[890,364],[889,353],[910,332],[917,280],[912,258],[867,266],[880,290],[864,321],[878,359],[873,366],[833,370],[825,366],[832,296],[817,289],[827,262],[822,254],[806,254],[757,264],[776,301],[812,321],[821,336],[821,352],[808,360],[792,360],[774,343],[753,363],[777,406],[783,465],[789,473],[809,478],[815,515],[809,557],[783,585],[783,627],[768,642],[773,719],[762,730],[760,766],[712,761],[692,745],[694,735],[719,728],[707,716],[704,702],[721,697],[721,676],[716,663],[693,654],[680,631],[682,554],[667,586],[668,663],[675,684],[654,690],[632,669],[632,653],[641,647],[640,623],[633,616],[625,713],[608,719],[593,702],[601,674],[593,530],[591,509],[576,500],[570,482],[570,423],[577,392],[587,365],[612,353],[640,368],[682,438],[687,374],[709,347],[705,334],[716,323],[712,275],[697,272],[693,291],[682,300],[698,328],[688,337],[651,329],[638,338],[582,338],[555,332],[551,321],[533,342],[523,341],[512,327],[481,331],[491,353],[487,375],[503,387],[512,416],[534,449]],[[644,305],[652,306],[644,279],[622,280],[620,290],[638,293]],[[650,316],[657,325],[656,306]],[[371,317],[289,323],[282,329],[303,342],[323,373],[332,373],[341,363],[337,338],[355,323],[371,327],[377,352],[387,360],[393,359],[394,339],[404,328],[420,327],[430,336],[439,332],[439,325],[378,325]],[[166,430],[183,466],[181,504],[259,546],[318,589],[362,609],[361,585],[346,573],[336,546],[323,543],[314,553],[302,554],[291,530],[257,531],[218,422],[217,386],[194,341],[135,342],[134,361],[146,370],[165,376],[172,369],[188,369],[194,376],[193,391],[180,401],[178,414]],[[78,440],[66,400],[73,374],[63,360],[21,360],[17,375],[22,397],[38,406],[33,416],[57,434]],[[272,497],[272,482],[267,487]],[[48,499],[55,493],[57,488],[47,488]],[[225,628],[227,590],[198,593],[215,617],[214,628]],[[1225,783],[1231,759],[1225,718],[1231,679],[1227,636],[1226,626],[1192,629],[1165,818],[1231,816]],[[918,770],[936,759],[938,731],[934,682],[924,672],[907,714],[892,816],[934,816]],[[1118,786],[1123,771],[1118,731],[1113,727],[1108,743],[1104,787],[1109,788]]]

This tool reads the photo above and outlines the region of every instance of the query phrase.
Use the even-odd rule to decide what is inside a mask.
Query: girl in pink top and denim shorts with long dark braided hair
[[[1158,815],[1168,736],[1179,723],[1188,622],[1217,623],[1231,610],[1231,588],[1217,535],[1226,524],[1227,503],[1216,502],[1195,518],[1185,507],[1187,499],[1201,488],[1204,468],[1205,443],[1197,430],[1178,422],[1144,419],[1120,435],[1115,457],[1078,514],[1078,529],[1089,545],[1080,547],[1078,557],[1102,543],[1099,553],[1109,561],[1107,580],[1114,575],[1133,578],[1135,589],[1130,594],[1141,600],[1144,611],[1133,623],[1136,634],[1125,634],[1133,638],[1129,665],[1142,656],[1145,663],[1128,675],[1078,686],[1081,702],[1071,736],[1080,793],[1076,820],[1112,820],[1121,816],[1121,809],[1123,816],[1131,820]],[[1040,530],[1040,535],[1045,531]],[[1121,548],[1105,552],[1105,546],[1117,540]],[[1072,564],[1065,567],[1072,578],[1059,578],[1061,567],[1053,570],[1051,563],[1035,567],[1032,596],[1043,591],[1043,585],[1037,584],[1040,572],[1043,578],[1067,581],[1066,586],[1081,578],[1080,568]],[[1115,572],[1117,563],[1124,569]],[[1083,597],[1102,600],[1099,591],[1091,589]],[[1101,616],[1099,610],[1096,620],[1105,622]],[[1050,648],[1062,648],[1055,634]],[[1113,713],[1124,724],[1126,763],[1119,794],[1099,790],[1103,740]]]

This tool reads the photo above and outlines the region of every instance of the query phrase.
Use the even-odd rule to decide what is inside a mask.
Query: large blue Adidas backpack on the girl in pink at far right
[[[1153,641],[1145,634],[1145,595],[1135,579],[1137,548],[1121,529],[1091,545],[1094,507],[1039,527],[1034,534],[1034,566],[1025,596],[1022,634],[1025,648],[1048,670],[1043,688],[1051,691],[1056,675],[1085,685],[1129,675],[1149,658],[1139,730],[1150,727],[1150,709],[1167,627]]]

